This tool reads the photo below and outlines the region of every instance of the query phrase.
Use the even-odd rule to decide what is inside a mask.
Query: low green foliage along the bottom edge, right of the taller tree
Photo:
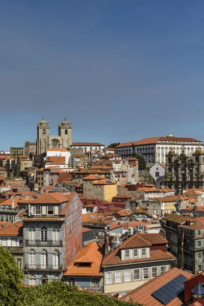
[[[137,306],[104,294],[92,294],[77,287],[53,281],[24,288],[16,306]]]

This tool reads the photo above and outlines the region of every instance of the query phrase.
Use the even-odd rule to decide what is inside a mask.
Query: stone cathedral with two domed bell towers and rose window
[[[49,122],[45,121],[44,117],[37,123],[37,154],[50,148],[69,148],[71,144],[72,123],[67,122],[66,118],[58,124],[58,136],[49,135]]]

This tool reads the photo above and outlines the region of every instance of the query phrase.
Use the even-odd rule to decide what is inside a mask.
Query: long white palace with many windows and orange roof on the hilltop
[[[116,147],[116,154],[123,158],[134,157],[136,154],[142,154],[146,163],[165,164],[165,155],[170,149],[176,154],[185,154],[190,157],[196,148],[201,147],[203,150],[204,143],[194,138],[174,137],[171,132],[166,137],[145,138],[139,141],[121,143]]]

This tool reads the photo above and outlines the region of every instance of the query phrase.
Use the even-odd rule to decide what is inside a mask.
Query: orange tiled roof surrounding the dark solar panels
[[[178,268],[173,268],[167,271],[160,276],[152,278],[147,283],[137,287],[136,289],[130,291],[129,293],[125,294],[120,298],[123,301],[130,301],[130,302],[138,302],[144,306],[163,306],[163,304],[158,301],[155,297],[151,294],[161,288],[162,286],[166,285],[168,282],[172,281],[176,276],[184,275],[188,279],[193,276],[193,274],[182,271]],[[171,302],[169,302],[166,306],[181,306],[184,302],[184,293],[176,296]]]

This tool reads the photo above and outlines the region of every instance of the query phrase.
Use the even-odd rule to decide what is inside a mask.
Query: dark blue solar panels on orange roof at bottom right
[[[151,293],[151,295],[154,296],[163,305],[166,305],[184,291],[184,282],[187,281],[187,279],[187,277],[180,274],[179,276],[176,276],[174,279],[172,279],[172,281],[162,286],[160,289]]]

